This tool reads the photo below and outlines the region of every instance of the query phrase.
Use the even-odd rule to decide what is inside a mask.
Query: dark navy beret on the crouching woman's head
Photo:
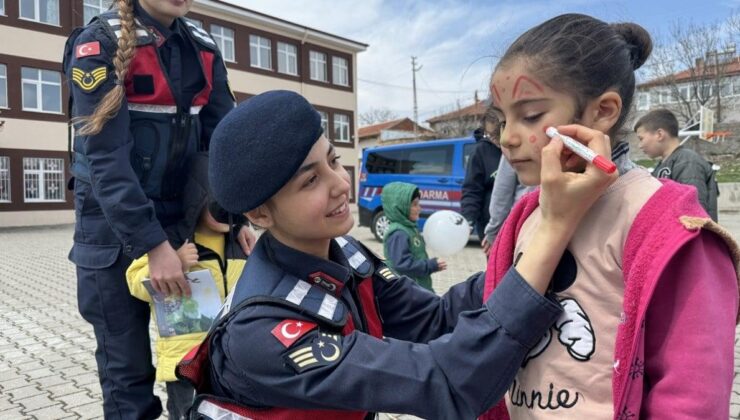
[[[211,136],[216,201],[231,213],[263,204],[293,177],[323,131],[319,113],[295,92],[273,90],[242,102]]]

